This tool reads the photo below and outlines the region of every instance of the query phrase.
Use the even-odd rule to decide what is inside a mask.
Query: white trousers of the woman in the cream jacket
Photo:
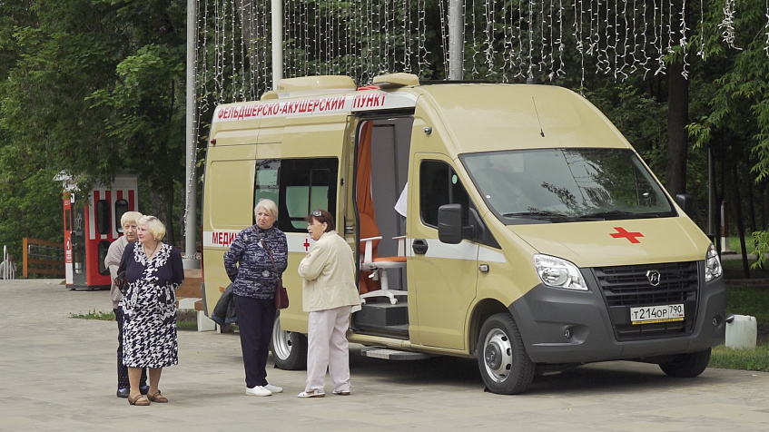
[[[347,329],[350,306],[310,312],[307,322],[307,384],[304,390],[325,391],[326,369],[334,390],[350,391]]]

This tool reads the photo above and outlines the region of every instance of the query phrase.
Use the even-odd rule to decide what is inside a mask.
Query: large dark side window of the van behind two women
[[[269,159],[256,162],[254,205],[261,198],[278,204],[278,228],[306,232],[304,217],[315,209],[336,212],[339,160]]]

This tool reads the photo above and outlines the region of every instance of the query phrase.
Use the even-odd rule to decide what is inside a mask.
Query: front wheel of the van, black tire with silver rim
[[[478,338],[478,368],[488,391],[498,395],[523,393],[534,380],[535,365],[509,314],[492,315],[483,323]]]

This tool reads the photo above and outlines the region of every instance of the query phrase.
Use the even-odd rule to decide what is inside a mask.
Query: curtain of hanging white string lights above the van
[[[710,33],[732,49],[739,7],[724,0],[723,20]],[[437,4],[438,7],[435,7]],[[253,100],[271,89],[271,2],[198,0],[198,80],[202,111],[209,103]],[[586,74],[623,80],[665,74],[665,57],[681,46],[705,57],[704,0],[464,0],[465,79],[511,83],[555,79],[566,62]],[[449,0],[286,0],[283,76],[346,74],[361,85],[378,74],[449,70]],[[689,23],[686,19],[698,22]],[[769,0],[764,26],[769,57]],[[427,49],[437,41],[439,53]],[[567,53],[576,53],[577,57]],[[575,70],[570,64],[569,70]]]

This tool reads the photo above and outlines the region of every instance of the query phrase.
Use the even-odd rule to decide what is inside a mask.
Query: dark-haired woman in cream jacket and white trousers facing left
[[[350,245],[337,231],[328,211],[307,216],[307,231],[315,244],[299,264],[302,310],[310,312],[307,324],[307,383],[300,398],[326,396],[326,369],[334,394],[350,395],[350,354],[347,329],[350,313],[360,309],[355,286],[355,259]]]

